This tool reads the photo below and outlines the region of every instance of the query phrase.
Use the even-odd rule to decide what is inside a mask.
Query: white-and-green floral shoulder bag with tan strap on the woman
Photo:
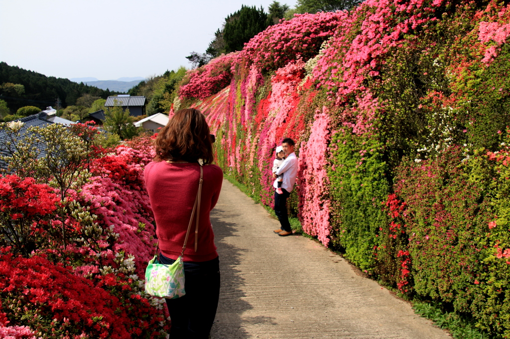
[[[159,241],[156,248],[156,254],[152,258],[145,269],[145,293],[153,297],[161,297],[167,299],[176,299],[186,294],[184,290],[184,264],[183,255],[188,242],[188,236],[193,222],[193,216],[196,214],[195,225],[195,252],[198,246],[198,219],[200,216],[200,196],[202,194],[203,168],[200,165],[200,181],[198,183],[198,192],[196,193],[195,204],[191,212],[188,231],[184,239],[183,250],[181,255],[171,265],[161,264],[158,260]],[[197,212],[198,210],[198,212]]]

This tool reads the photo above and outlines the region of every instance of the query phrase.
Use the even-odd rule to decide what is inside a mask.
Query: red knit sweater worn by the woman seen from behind
[[[150,206],[156,219],[159,247],[165,257],[177,259],[183,249],[198,191],[200,165],[197,163],[152,161],[145,166],[144,175]],[[196,219],[193,218],[188,243],[184,251],[184,261],[208,261],[218,256],[209,213],[218,201],[222,181],[223,172],[219,166],[203,166],[198,249],[195,253]]]

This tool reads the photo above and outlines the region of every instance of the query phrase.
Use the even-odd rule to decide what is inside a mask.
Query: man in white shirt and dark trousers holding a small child
[[[282,147],[287,158],[282,165],[278,167],[276,172],[273,173],[274,179],[281,174],[284,175],[284,180],[282,182],[282,194],[278,194],[278,192],[276,192],[276,188],[278,188],[277,180],[275,180],[273,184],[273,187],[275,188],[274,213],[280,221],[281,228],[279,230],[274,230],[273,232],[277,233],[281,237],[286,237],[292,234],[289,215],[287,213],[287,199],[290,196],[290,192],[292,191],[294,184],[296,183],[297,157],[294,153],[294,140],[291,138],[284,139]]]

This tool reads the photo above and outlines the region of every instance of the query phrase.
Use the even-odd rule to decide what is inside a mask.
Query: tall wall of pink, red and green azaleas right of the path
[[[190,73],[207,90],[180,99],[208,116],[219,164],[254,199],[272,206],[273,152],[294,138],[304,232],[509,337],[509,35],[494,1],[367,0],[271,26]]]

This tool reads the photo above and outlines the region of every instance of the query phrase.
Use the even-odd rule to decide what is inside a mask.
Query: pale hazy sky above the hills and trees
[[[203,53],[228,14],[273,0],[0,0],[0,61],[60,78],[149,77]],[[282,0],[290,8],[296,0]]]

